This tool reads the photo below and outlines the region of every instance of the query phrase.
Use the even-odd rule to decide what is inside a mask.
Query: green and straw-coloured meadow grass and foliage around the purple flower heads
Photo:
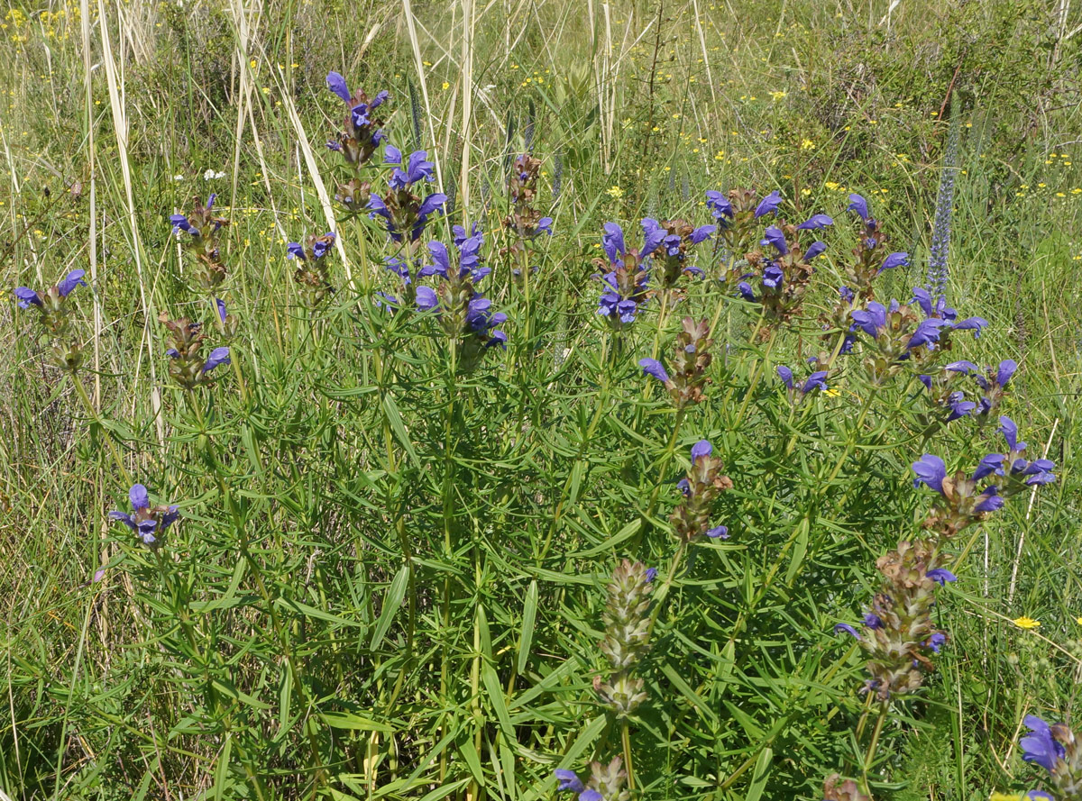
[[[528,801],[613,757],[629,786],[608,801],[819,799],[832,773],[875,798],[1038,786],[1022,720],[1072,721],[1082,666],[1079,25],[1034,0],[10,3],[3,285],[89,285],[64,302],[74,373],[32,306],[0,309],[0,790]],[[434,161],[449,211],[421,242],[484,229],[506,348],[373,303],[413,290],[379,221],[334,199],[353,173],[324,147],[330,70],[388,90],[390,141]],[[860,248],[850,192],[910,254],[875,297],[925,283],[952,125],[946,295],[989,325],[950,359],[1020,366],[990,419],[940,425],[908,374],[867,379],[867,337],[831,355],[831,315]],[[554,236],[516,249],[526,151]],[[359,174],[374,191],[381,157]],[[705,279],[606,325],[604,224],[637,246],[639,218],[714,223],[704,192],[744,186],[834,219],[800,313],[756,335],[715,237]],[[211,192],[229,225],[208,291],[169,217]],[[327,231],[334,291],[313,302],[287,244]],[[162,313],[228,345],[213,386],[171,382]],[[713,363],[677,410],[638,361],[672,370],[685,316]],[[794,399],[776,366],[803,382],[820,351],[829,390]],[[921,532],[934,493],[910,464],[971,471],[1003,450],[998,414],[1057,480],[947,545],[947,643],[881,706],[834,626]],[[733,483],[709,507],[728,538],[682,540],[702,439]],[[180,507],[160,547],[108,518],[136,482]],[[594,680],[616,675],[624,558],[658,573],[631,616],[646,699],[621,717]]]

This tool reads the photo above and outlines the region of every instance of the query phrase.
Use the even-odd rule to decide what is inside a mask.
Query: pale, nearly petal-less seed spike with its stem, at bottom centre
[[[657,570],[630,559],[621,560],[612,571],[605,611],[602,612],[605,636],[599,646],[608,662],[608,675],[605,678],[599,673],[594,677],[594,692],[620,721],[623,759],[628,763],[628,778],[632,789],[635,780],[626,719],[646,700],[644,682],[634,672],[649,649],[654,618],[647,615],[647,610],[656,576]]]

